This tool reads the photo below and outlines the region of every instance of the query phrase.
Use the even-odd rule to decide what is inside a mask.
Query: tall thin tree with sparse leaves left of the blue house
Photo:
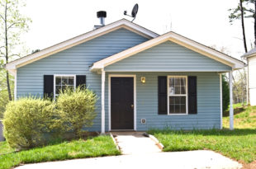
[[[21,57],[17,52],[17,46],[21,45],[21,33],[28,31],[28,23],[31,22],[30,18],[21,15],[19,9],[24,6],[25,3],[21,0],[0,1],[0,60],[3,60],[2,64],[9,63],[15,57]],[[12,101],[10,75],[7,71],[5,74],[8,100]]]

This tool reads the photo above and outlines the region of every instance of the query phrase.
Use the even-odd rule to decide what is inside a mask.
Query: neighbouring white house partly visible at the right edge
[[[242,58],[247,60],[249,103],[251,106],[256,106],[256,76],[254,74],[256,73],[256,48],[251,49]]]

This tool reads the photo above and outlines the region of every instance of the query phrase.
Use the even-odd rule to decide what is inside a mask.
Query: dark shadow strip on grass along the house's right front
[[[212,135],[212,136],[244,136],[256,135],[255,129],[206,129],[206,130],[171,130],[171,129],[151,129],[149,134],[181,134],[181,135]]]

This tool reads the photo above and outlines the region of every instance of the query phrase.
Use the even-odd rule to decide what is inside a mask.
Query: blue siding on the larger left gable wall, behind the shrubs
[[[43,76],[45,74],[85,74],[87,86],[96,92],[97,96],[101,96],[101,75],[91,73],[89,66],[100,59],[119,53],[146,40],[148,39],[141,35],[121,28],[45,59],[27,64],[17,69],[17,97],[42,96],[44,90]],[[100,103],[101,99],[99,98],[97,117],[91,130],[99,131],[101,129]]]

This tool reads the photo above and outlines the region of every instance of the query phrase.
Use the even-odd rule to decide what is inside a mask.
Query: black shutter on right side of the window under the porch
[[[188,77],[188,114],[197,114],[197,77]]]

